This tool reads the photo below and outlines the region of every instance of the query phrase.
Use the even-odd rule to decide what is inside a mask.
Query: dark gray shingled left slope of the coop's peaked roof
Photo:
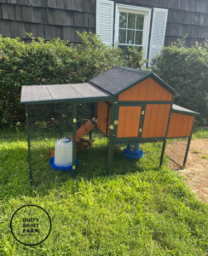
[[[136,81],[145,78],[149,74],[151,73],[131,68],[113,67],[95,79],[91,79],[90,83],[114,95],[118,93],[119,90],[124,89],[130,84],[134,84]]]

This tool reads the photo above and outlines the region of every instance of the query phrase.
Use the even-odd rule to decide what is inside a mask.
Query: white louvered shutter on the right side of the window
[[[153,25],[149,47],[149,67],[151,60],[160,53],[165,41],[165,30],[167,24],[168,9],[153,9]]]

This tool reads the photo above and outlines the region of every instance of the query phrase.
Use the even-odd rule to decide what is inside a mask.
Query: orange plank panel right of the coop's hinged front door
[[[165,137],[169,113],[170,104],[148,104],[142,137]]]

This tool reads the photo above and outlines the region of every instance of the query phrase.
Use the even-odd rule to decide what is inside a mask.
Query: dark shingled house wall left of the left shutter
[[[0,34],[20,37],[26,42],[34,38],[61,38],[80,43],[78,32],[95,33],[95,0],[1,0]]]

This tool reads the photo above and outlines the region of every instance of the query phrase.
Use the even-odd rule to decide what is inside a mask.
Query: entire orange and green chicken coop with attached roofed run
[[[37,148],[32,148],[31,142],[36,144],[40,133],[71,135],[75,172],[76,142],[94,127],[109,138],[107,173],[113,171],[114,144],[161,142],[161,166],[170,138],[188,138],[185,166],[194,118],[199,113],[173,104],[174,96],[180,95],[154,73],[118,66],[90,83],[22,86],[20,102],[26,105],[31,181],[32,151],[41,147],[37,143]]]

